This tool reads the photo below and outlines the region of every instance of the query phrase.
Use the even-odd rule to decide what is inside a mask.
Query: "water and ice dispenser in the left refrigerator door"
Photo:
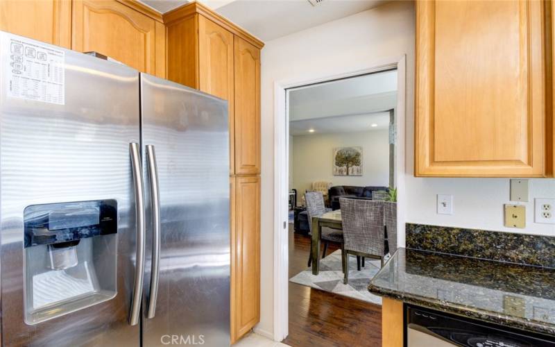
[[[117,201],[28,206],[24,235],[27,324],[116,295]]]

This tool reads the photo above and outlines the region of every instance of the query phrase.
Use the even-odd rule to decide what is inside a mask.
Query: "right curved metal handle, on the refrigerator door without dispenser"
[[[152,204],[152,267],[151,267],[151,295],[148,300],[146,318],[154,318],[156,311],[156,298],[158,295],[158,275],[160,274],[160,189],[158,187],[158,169],[156,167],[156,153],[152,144],[146,145],[146,158],[148,160],[148,174],[151,178],[151,204]]]

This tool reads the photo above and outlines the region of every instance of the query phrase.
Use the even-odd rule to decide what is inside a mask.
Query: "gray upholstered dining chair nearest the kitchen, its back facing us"
[[[361,257],[363,260],[364,257],[379,259],[384,266],[385,255],[397,248],[397,204],[354,198],[340,198],[339,201],[343,224],[343,283],[346,285],[350,254],[357,256],[357,269],[360,270]]]

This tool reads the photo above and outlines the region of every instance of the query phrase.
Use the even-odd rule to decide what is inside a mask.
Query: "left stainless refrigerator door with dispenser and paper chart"
[[[128,148],[140,140],[139,74],[7,33],[0,32],[0,47],[1,342],[139,346],[139,325],[128,324],[136,233]],[[49,248],[24,248],[24,209],[107,199],[117,201],[117,233],[80,239],[74,255],[74,261],[90,257],[96,264],[40,273],[50,260],[37,247]],[[34,251],[27,253],[30,249]],[[98,261],[94,253],[114,259]],[[26,281],[31,263],[39,275]],[[80,266],[86,276],[72,277]],[[67,300],[74,294],[63,290],[68,280],[86,284],[75,290],[74,301]],[[103,283],[116,290],[108,298],[94,292]],[[87,304],[88,295],[94,300]],[[26,303],[38,303],[41,309],[31,316],[41,320],[26,323],[24,312],[31,310]],[[51,303],[58,306],[49,312]],[[59,314],[60,305],[67,313]]]

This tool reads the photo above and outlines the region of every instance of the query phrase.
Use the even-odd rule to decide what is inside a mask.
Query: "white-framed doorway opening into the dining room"
[[[313,328],[318,334],[322,329],[336,331],[327,342],[361,338],[360,331],[335,325],[351,310],[366,312],[368,317],[360,317],[363,321],[376,321],[381,300],[366,287],[381,262],[347,255],[345,264],[341,238],[333,237],[334,231],[343,230],[332,225],[318,229],[318,237],[331,237],[321,239],[317,247],[311,221],[315,214],[341,219],[344,198],[391,201],[402,217],[398,204],[404,145],[398,144],[404,144],[404,136],[398,134],[404,135],[404,58],[343,76],[276,83],[275,90],[275,210],[280,225],[275,229],[274,338],[280,341],[289,335],[285,343],[302,345],[296,339],[311,335]],[[321,211],[311,209],[314,197]],[[395,248],[397,229],[389,232]],[[388,243],[387,233],[384,241]],[[334,312],[335,318],[318,316],[324,311]]]

